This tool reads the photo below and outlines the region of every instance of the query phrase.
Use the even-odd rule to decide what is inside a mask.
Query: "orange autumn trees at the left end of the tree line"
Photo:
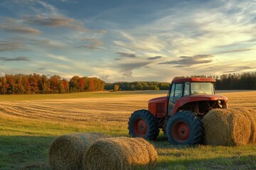
[[[95,77],[74,76],[70,81],[54,75],[6,74],[0,77],[0,94],[65,94],[80,91],[102,91],[105,81]]]

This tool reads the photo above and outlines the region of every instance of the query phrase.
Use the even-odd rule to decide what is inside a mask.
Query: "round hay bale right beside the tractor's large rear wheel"
[[[250,142],[251,123],[240,111],[213,109],[203,118],[206,145],[246,145]]]

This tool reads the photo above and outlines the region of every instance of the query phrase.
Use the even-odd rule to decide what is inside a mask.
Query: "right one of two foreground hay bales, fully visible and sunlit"
[[[83,169],[131,169],[152,166],[158,154],[153,145],[142,138],[112,137],[98,140],[82,159]]]

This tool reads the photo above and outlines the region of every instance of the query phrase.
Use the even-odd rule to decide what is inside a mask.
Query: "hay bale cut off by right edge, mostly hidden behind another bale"
[[[256,110],[252,108],[237,108],[247,116],[251,123],[250,143],[256,143]]]

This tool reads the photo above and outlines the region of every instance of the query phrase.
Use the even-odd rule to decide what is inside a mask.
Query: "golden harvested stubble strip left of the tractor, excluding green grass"
[[[82,98],[47,101],[1,101],[0,111],[21,118],[78,122],[124,122],[129,114],[146,108],[147,99],[141,96],[119,98]]]

